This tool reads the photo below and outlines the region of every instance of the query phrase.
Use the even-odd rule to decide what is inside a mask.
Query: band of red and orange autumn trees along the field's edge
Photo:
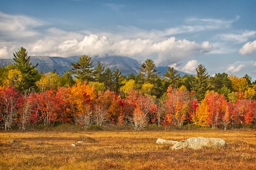
[[[126,125],[141,130],[148,124],[176,126],[194,124],[228,128],[256,123],[256,101],[238,97],[236,103],[208,91],[202,101],[183,87],[168,87],[165,99],[131,90],[125,96],[113,91],[96,91],[88,83],[72,87],[21,94],[14,87],[0,88],[0,123],[5,130],[27,125],[92,124]]]

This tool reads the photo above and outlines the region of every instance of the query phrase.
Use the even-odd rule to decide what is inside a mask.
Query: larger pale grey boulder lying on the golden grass
[[[221,138],[193,137],[175,143],[175,145],[172,146],[172,150],[179,150],[181,148],[199,150],[201,148],[223,148],[226,146],[226,142]]]

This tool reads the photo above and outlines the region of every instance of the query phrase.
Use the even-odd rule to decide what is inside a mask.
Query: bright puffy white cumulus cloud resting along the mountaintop
[[[155,57],[158,66],[171,65],[177,61],[194,55],[207,53],[212,49],[209,42],[197,44],[188,40],[176,40],[170,37],[162,41],[150,39],[124,39],[109,41],[108,37],[89,35],[82,41],[66,40],[58,46],[61,53],[86,53],[90,56],[129,56],[139,57],[141,61]]]

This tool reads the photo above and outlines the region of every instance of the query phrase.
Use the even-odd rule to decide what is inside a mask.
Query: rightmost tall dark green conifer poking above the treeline
[[[199,65],[196,68],[196,79],[193,80],[191,86],[192,90],[196,92],[196,97],[199,101],[204,99],[205,92],[210,89],[209,86],[209,75],[204,65]]]

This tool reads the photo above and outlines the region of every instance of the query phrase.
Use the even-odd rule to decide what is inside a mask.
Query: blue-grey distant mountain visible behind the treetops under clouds
[[[53,70],[56,70],[57,73],[63,74],[64,71],[71,70],[72,65],[71,63],[75,63],[79,60],[80,56],[71,56],[71,57],[49,57],[49,56],[31,56],[30,61],[32,65],[36,65],[38,63],[38,66],[36,69],[38,69],[39,73],[42,71],[42,73],[47,73]],[[130,58],[130,57],[120,57],[120,56],[107,56],[107,57],[94,57],[92,58],[92,61],[94,65],[97,65],[97,62],[100,61],[105,68],[109,68],[112,71],[115,69],[119,69],[119,71],[123,75],[129,75],[133,73],[134,75],[138,75],[141,64],[138,63],[137,60]],[[0,66],[5,67],[7,65],[10,65],[11,63],[14,63],[13,59],[0,59]],[[160,73],[160,75],[163,76],[164,73],[166,73],[166,70],[168,69],[168,66],[166,67],[156,67],[156,70]],[[184,73],[182,71],[179,71],[180,75],[183,76],[187,73]]]

